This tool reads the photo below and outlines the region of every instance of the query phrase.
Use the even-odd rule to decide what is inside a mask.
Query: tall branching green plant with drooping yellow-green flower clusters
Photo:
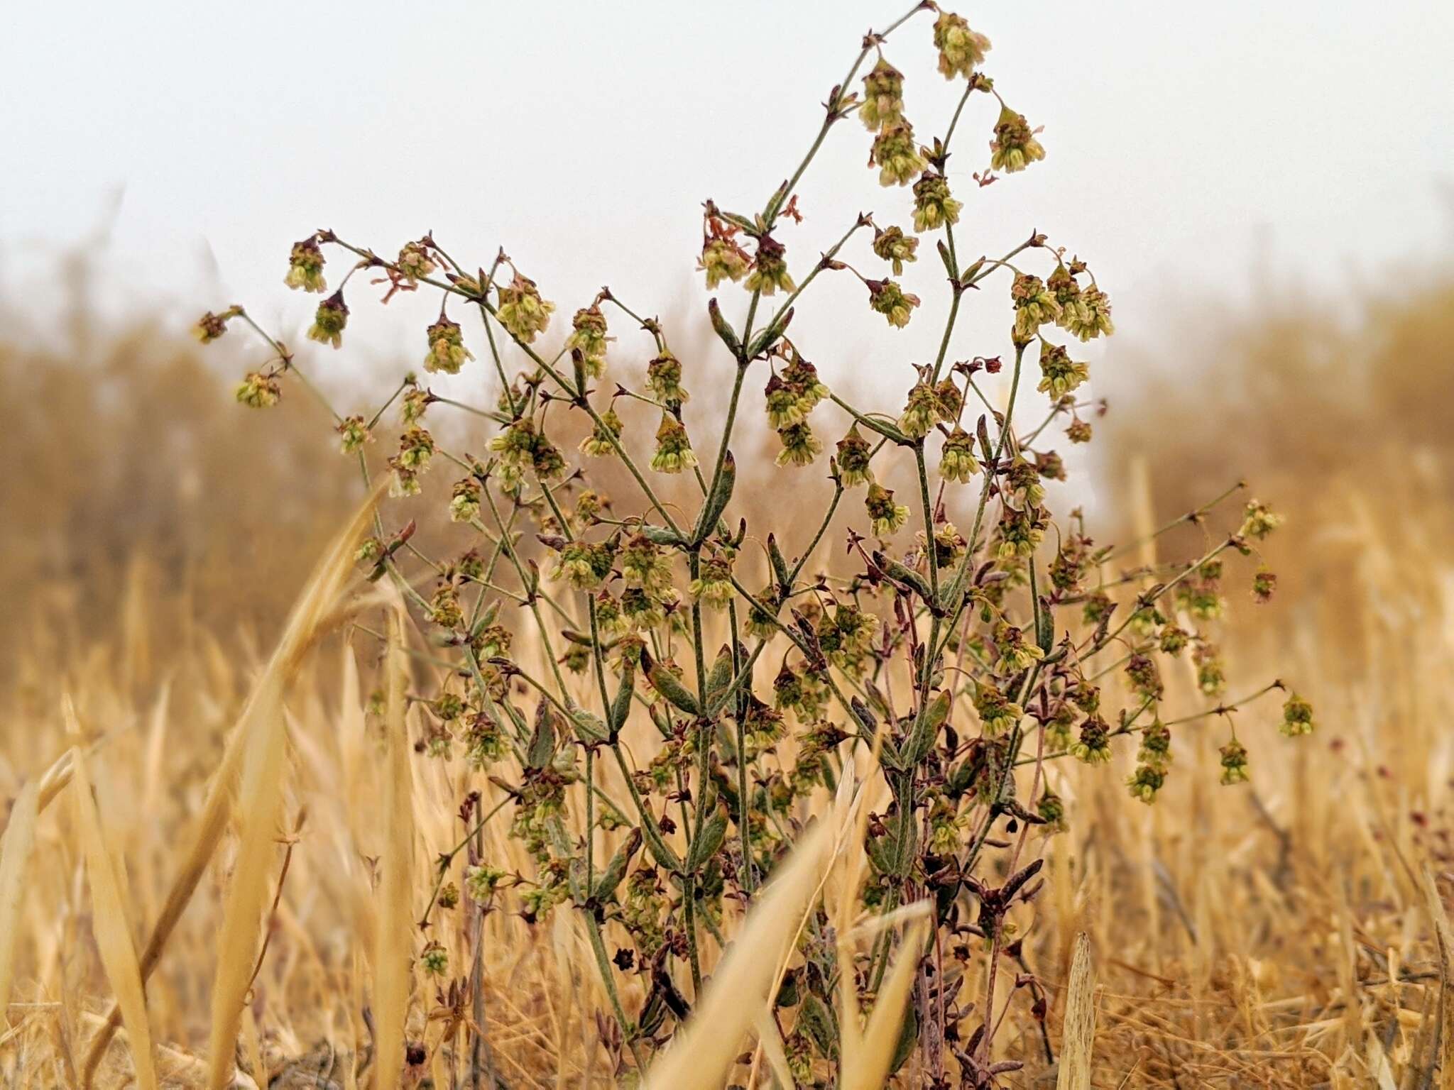
[[[963,89],[947,128],[929,140],[910,122],[906,77],[885,57],[891,36],[920,15],[932,20],[939,73]],[[1111,564],[1138,542],[1098,546],[1080,512],[1056,519],[1047,507],[1045,484],[1066,469],[1045,440],[1053,429],[1072,443],[1090,439],[1082,413],[1096,404],[1075,355],[1112,333],[1111,304],[1086,262],[1038,233],[999,257],[964,257],[961,198],[1044,169],[1045,157],[1040,129],[981,70],[989,49],[963,17],[917,4],[864,38],[810,150],[760,211],[705,202],[698,269],[708,291],[734,292],[707,301],[720,342],[711,359],[676,356],[659,321],[605,288],[547,350],[564,314],[503,250],[471,267],[427,234],[395,257],[333,231],[292,247],[288,286],[323,296],[308,337],[334,349],[348,337],[345,289],[358,272],[381,273],[374,283],[384,302],[398,292],[441,302],[425,330],[425,374],[406,375],[374,413],[334,411],[339,445],[365,480],[381,468],[369,445],[397,432],[391,494],[413,497],[426,474],[448,472],[448,516],[477,536],[462,554],[432,557],[413,520],[390,529],[375,516],[358,554],[368,578],[398,587],[429,645],[411,653],[435,685],[410,698],[416,748],[439,760],[462,753],[471,770],[457,841],[432,846],[417,969],[451,981],[451,997],[470,987],[429,939],[441,913],[510,910],[526,921],[579,913],[609,998],[601,1038],[622,1077],[637,1077],[670,1042],[711,952],[829,805],[846,764],[859,762],[885,802],[867,815],[856,911],[888,917],[919,905],[933,924],[909,950],[912,1003],[890,1070],[917,1049],[926,1086],[997,1086],[1021,1065],[992,1052],[1006,1003],[1045,1014],[1011,914],[1041,887],[1044,837],[1073,817],[1051,789],[1053,762],[1105,763],[1118,744],[1138,743],[1127,789],[1154,802],[1173,776],[1176,728],[1217,716],[1226,724],[1221,780],[1239,783],[1249,756],[1233,714],[1284,687],[1274,680],[1224,696],[1216,635],[1224,562],[1255,557],[1280,520],[1252,500],[1214,529],[1240,483],[1153,535],[1197,525],[1201,555],[1114,574]],[[957,177],[967,192],[955,195],[949,148],[979,102],[990,110],[989,163]],[[824,140],[839,122],[852,129],[855,116],[888,208],[859,215],[820,257],[795,259],[784,240],[804,219],[800,183]],[[920,251],[928,238],[933,257]],[[340,259],[348,273],[329,294],[326,262]],[[948,292],[938,353],[903,363],[909,391],[896,411],[852,405],[832,389],[832,365],[810,362],[832,359],[838,346],[795,340],[794,314],[820,276],[846,275],[867,291],[865,321],[904,327],[920,299],[894,278],[922,259],[942,263]],[[963,328],[970,291],[1008,296],[1005,324]],[[273,405],[289,381],[324,397],[241,307],[205,315],[196,334],[215,340],[234,321],[270,353],[237,388],[240,403]],[[641,388],[608,378],[608,359],[616,371],[614,358],[625,355],[612,336],[621,328],[644,331],[650,344]],[[980,355],[955,359],[971,339]],[[499,379],[493,407],[427,387],[430,374],[475,366]],[[1027,426],[1031,395],[1021,387],[1035,368],[1044,403]],[[708,375],[730,379],[721,433],[691,435],[682,407]],[[798,530],[752,525],[737,510],[731,446],[749,382],[763,384],[781,439],[778,472],[826,468],[833,485],[792,558],[779,542]],[[616,405],[630,401],[659,414],[654,436],[622,423]],[[397,429],[385,424],[395,405]],[[429,427],[441,408],[473,413],[491,433],[474,449],[446,449]],[[579,464],[560,437],[571,427],[585,435]],[[830,449],[824,432],[840,436]],[[631,498],[592,490],[592,464],[618,464]],[[695,513],[664,498],[672,475],[695,483]],[[862,506],[849,517],[848,560],[810,567],[853,497]],[[1272,573],[1252,574],[1258,599],[1274,587]],[[526,641],[541,653],[522,653],[516,644]],[[1163,719],[1162,669],[1178,657],[1189,658],[1214,706]],[[1102,686],[1112,693],[1102,698]],[[1284,732],[1310,732],[1307,702],[1285,701]],[[477,833],[497,814],[531,866],[480,853]],[[855,952],[822,908],[810,914],[771,1003],[797,1083],[855,1084],[839,1070],[845,1004],[836,997],[846,988],[853,1010],[874,1006],[896,956],[891,930],[877,936]],[[973,962],[984,987],[968,996]],[[997,997],[1006,988],[1011,1000]]]

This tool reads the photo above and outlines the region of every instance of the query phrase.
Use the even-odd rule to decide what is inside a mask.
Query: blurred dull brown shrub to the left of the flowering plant
[[[0,679],[42,634],[76,650],[111,637],[128,593],[147,597],[160,655],[188,621],[224,637],[276,623],[359,491],[320,410],[241,413],[225,359],[145,321],[60,342],[6,328]]]

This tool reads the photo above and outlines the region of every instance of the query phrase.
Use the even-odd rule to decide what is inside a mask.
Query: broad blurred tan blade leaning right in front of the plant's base
[[[743,1033],[766,1004],[784,950],[829,862],[833,830],[820,821],[803,836],[717,965],[696,1012],[647,1071],[647,1090],[720,1090]]]

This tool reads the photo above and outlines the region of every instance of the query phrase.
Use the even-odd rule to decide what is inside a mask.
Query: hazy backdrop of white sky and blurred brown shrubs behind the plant
[[[246,304],[352,411],[416,363],[433,317],[432,299],[372,305],[381,289],[356,278],[346,347],[305,342],[314,301],[281,279],[289,244],[314,228],[381,251],[429,230],[481,263],[503,246],[561,314],[609,283],[662,315],[689,376],[710,368],[699,202],[759,206],[801,157],[813,103],[859,31],[897,15],[878,0],[260,3],[246,16],[9,6],[6,613],[81,644],[124,623],[128,593],[173,602],[173,635],[183,616],[276,623],[350,501],[352,465],[302,397],[276,413],[237,408],[230,385],[257,353],[231,337],[202,359],[189,324]],[[1154,514],[1170,517],[1246,477],[1293,516],[1272,561],[1297,565],[1278,565],[1282,600],[1262,621],[1323,609],[1320,623],[1364,631],[1354,613],[1368,603],[1338,592],[1367,535],[1447,539],[1454,94],[1442,49],[1454,7],[965,15],[1000,47],[987,70],[1044,126],[1048,158],[974,189],[993,118],[971,106],[949,163],[967,199],[961,249],[1002,253],[1045,231],[1090,262],[1115,305],[1118,336],[1090,346],[1109,411],[1092,461],[1067,452],[1090,525],[1122,532],[1114,513],[1147,481]],[[931,51],[928,35],[900,35],[887,55],[932,73]],[[912,76],[907,112],[942,128],[951,94]],[[907,196],[877,189],[867,151],[859,126],[833,132],[804,222],[782,233],[790,262],[811,260],[869,202],[901,196],[907,218]],[[865,315],[846,343],[832,323],[862,308],[861,286],[816,285],[794,334],[829,384],[897,397],[904,360],[932,353],[945,305],[932,257],[906,280],[925,298],[917,320],[899,331]],[[997,292],[973,301],[957,358],[1002,350],[1000,308]],[[614,353],[644,366],[647,343],[627,331]],[[483,366],[432,385],[494,395]],[[705,389],[692,410],[711,416]],[[1431,600],[1428,587],[1410,597]],[[55,629],[81,615],[92,631]],[[0,634],[35,639],[29,621]]]

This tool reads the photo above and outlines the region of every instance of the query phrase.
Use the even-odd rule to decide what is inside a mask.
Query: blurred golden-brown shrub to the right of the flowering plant
[[[1141,459],[1169,520],[1255,481],[1288,514],[1268,548],[1274,631],[1316,625],[1351,663],[1380,623],[1438,607],[1454,529],[1454,276],[1390,280],[1381,295],[1280,288],[1246,312],[1173,308],[1154,356],[1105,368],[1104,487],[1131,498]]]

